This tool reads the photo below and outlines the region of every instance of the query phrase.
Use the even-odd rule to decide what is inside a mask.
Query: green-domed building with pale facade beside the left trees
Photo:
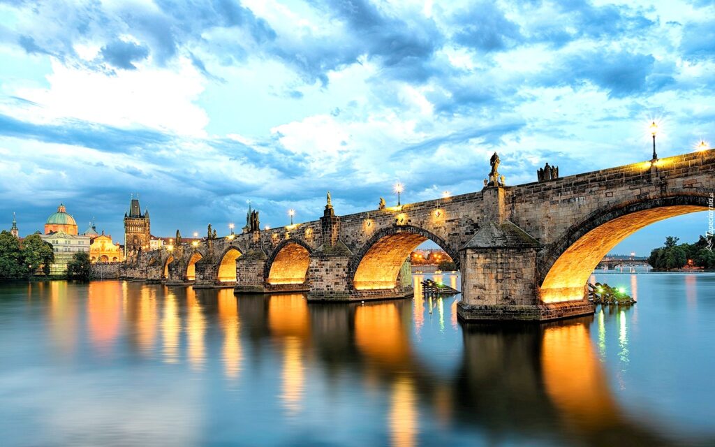
[[[77,234],[77,222],[67,214],[66,208],[61,204],[57,212],[47,218],[45,234],[40,237],[45,242],[49,242],[54,251],[50,275],[64,275],[74,253],[89,252],[91,237]]]

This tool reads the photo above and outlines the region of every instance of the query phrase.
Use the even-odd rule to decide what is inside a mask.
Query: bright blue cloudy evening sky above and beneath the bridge
[[[715,141],[715,5],[676,1],[0,0],[0,226],[60,202],[123,242],[509,185]],[[613,252],[693,241],[706,213]]]

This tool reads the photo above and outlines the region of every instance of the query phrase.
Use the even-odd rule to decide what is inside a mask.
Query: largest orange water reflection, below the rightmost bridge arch
[[[585,323],[545,328],[541,365],[546,393],[566,423],[591,429],[613,423],[616,403]]]

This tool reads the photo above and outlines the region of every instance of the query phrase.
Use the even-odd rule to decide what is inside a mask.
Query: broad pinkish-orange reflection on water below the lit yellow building
[[[116,282],[94,281],[87,287],[89,340],[103,354],[112,351],[122,324],[122,288]]]

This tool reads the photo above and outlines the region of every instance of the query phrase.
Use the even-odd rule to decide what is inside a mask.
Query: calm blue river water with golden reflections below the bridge
[[[3,285],[0,444],[715,445],[715,275],[596,279],[638,305],[503,327],[458,297]]]

